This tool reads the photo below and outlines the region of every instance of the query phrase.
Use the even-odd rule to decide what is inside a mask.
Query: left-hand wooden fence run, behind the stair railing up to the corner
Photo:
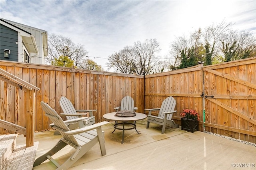
[[[93,113],[96,122],[102,121],[102,115],[113,112],[114,107],[120,106],[126,95],[134,99],[138,112],[144,111],[144,76],[141,75],[7,61],[1,61],[0,68],[40,88],[35,95],[36,131],[49,129],[50,123],[43,114],[40,102],[44,101],[57,113],[62,113],[59,104],[61,96],[68,98],[76,109],[97,109]],[[0,83],[1,119],[26,127],[23,92],[18,89],[17,93],[12,86],[4,90],[6,82]],[[0,130],[1,134],[10,133],[3,128]]]

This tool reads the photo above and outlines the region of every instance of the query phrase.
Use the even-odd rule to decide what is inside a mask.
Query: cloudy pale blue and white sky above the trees
[[[0,17],[71,38],[101,66],[145,39],[156,39],[166,58],[176,37],[223,20],[256,35],[255,0],[0,0]]]

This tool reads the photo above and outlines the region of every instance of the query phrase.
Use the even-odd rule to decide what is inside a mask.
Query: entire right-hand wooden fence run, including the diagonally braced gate
[[[167,96],[176,99],[176,123],[183,109],[194,109],[200,131],[256,143],[256,57],[147,75],[145,108]]]

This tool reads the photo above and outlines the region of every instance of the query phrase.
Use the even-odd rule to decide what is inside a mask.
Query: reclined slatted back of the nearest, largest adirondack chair
[[[73,143],[74,145],[79,146],[78,142],[76,141],[76,139],[74,138],[74,136],[68,137],[64,131],[70,131],[70,129],[68,128],[68,126],[64,123],[64,121],[62,120],[62,118],[60,117],[60,115],[58,115],[58,113],[52,109],[48,104],[44,103],[44,102],[40,102],[42,109],[45,112],[45,115],[47,117],[50,118],[50,120],[52,121],[52,123],[54,123],[54,125],[58,128],[60,128],[60,134],[62,135],[62,137],[64,139],[66,139],[67,141],[70,141],[71,143]],[[64,131],[62,131],[64,130]]]

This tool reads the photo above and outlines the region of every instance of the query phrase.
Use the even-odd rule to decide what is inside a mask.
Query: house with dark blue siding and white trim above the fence
[[[0,18],[0,59],[45,64],[47,31]]]

